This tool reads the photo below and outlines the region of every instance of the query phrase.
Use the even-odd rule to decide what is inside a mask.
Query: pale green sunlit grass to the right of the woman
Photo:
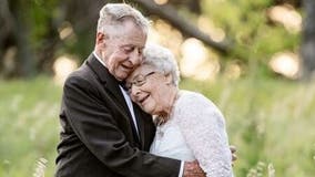
[[[225,115],[230,143],[238,152],[236,176],[267,176],[270,168],[275,176],[315,173],[314,84],[221,77],[213,83],[183,80],[182,87],[202,92]]]

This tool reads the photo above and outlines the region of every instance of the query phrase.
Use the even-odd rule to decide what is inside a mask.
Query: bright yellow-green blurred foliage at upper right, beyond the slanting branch
[[[274,3],[272,0],[202,1],[203,15],[214,21],[232,40],[232,53],[225,59],[242,60],[250,67],[250,63],[255,61],[267,69],[273,54],[283,51],[297,52],[301,34],[291,33],[267,18],[267,9]]]

